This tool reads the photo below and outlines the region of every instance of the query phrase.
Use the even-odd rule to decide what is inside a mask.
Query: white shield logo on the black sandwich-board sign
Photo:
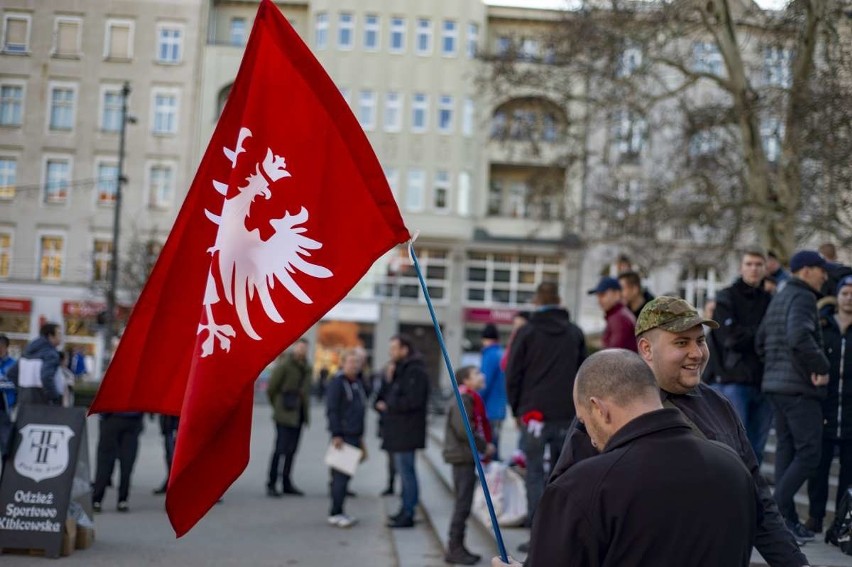
[[[15,453],[15,470],[36,482],[54,478],[68,468],[68,443],[74,431],[67,425],[29,423],[23,426]]]

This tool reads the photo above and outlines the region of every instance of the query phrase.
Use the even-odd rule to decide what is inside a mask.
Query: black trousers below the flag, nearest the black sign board
[[[98,436],[98,464],[92,500],[104,499],[107,484],[118,459],[118,501],[126,502],[130,496],[130,476],[139,454],[139,434],[142,433],[142,416],[108,415],[100,422]]]

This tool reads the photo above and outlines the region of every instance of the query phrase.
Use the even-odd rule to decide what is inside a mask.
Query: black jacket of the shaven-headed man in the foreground
[[[758,514],[737,454],[694,435],[678,410],[661,409],[550,483],[527,565],[748,567]]]

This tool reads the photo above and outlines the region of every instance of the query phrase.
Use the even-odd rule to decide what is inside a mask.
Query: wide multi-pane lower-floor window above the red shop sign
[[[465,301],[515,307],[532,303],[539,282],[561,286],[558,256],[468,252],[465,262]]]

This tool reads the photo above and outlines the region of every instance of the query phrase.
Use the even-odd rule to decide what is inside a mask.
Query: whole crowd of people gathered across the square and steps
[[[551,282],[537,286],[533,310],[517,313],[505,346],[494,325],[483,328],[480,365],[455,376],[475,451],[455,398],[446,412],[443,457],[455,498],[448,563],[481,560],[465,546],[475,465],[509,455],[524,465],[531,532],[519,551],[527,565],[746,566],[754,547],[773,567],[801,567],[802,545],[823,531],[836,538],[838,523],[826,523],[835,456],[835,509],[852,486],[852,269],[830,246],[796,252],[789,271],[759,248],[743,251],[739,266],[703,313],[677,297],[653,297],[629,265],[601,278],[588,290],[605,320],[591,355]],[[0,336],[4,454],[14,404],[62,403],[60,342],[58,326],[47,324],[15,361]],[[266,390],[276,431],[266,482],[272,498],[303,494],[293,465],[311,417],[309,346],[301,339],[279,357]],[[370,408],[376,412],[388,460],[382,494],[395,494],[401,480],[387,526],[402,529],[415,524],[416,452],[426,446],[431,381],[410,337],[394,336],[388,355],[371,373],[363,348],[341,354],[323,383],[325,421],[334,449],[366,456],[365,422]],[[517,447],[501,448],[509,410],[520,437]],[[128,510],[142,417],[101,416],[96,510],[116,461],[117,508]],[[774,490],[760,470],[773,426]],[[177,418],[162,416],[167,474],[177,427]],[[331,526],[358,521],[345,511],[350,479],[330,469]],[[794,496],[805,484],[802,521]]]

